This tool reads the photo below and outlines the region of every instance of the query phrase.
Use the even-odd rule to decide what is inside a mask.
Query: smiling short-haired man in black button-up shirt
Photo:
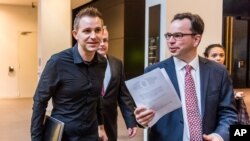
[[[97,106],[101,106],[107,61],[96,52],[103,24],[96,8],[82,9],[72,32],[77,43],[48,60],[33,98],[32,141],[43,141],[43,121],[51,98],[51,116],[64,122],[62,141],[98,141],[98,123],[103,126],[103,117]]]

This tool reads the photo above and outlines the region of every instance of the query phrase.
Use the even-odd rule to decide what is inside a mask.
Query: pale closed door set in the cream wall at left
[[[18,97],[33,97],[38,82],[37,33],[23,31],[18,37]]]

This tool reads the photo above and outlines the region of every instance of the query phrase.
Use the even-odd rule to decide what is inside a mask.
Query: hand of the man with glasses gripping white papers
[[[137,122],[142,126],[147,127],[148,123],[153,119],[155,112],[145,107],[137,107],[134,114]]]

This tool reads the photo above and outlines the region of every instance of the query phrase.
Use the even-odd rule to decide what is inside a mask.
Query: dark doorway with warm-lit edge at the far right
[[[223,1],[223,45],[234,88],[250,88],[250,1]]]

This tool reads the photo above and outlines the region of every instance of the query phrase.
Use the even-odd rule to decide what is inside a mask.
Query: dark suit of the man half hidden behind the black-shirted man
[[[111,79],[103,96],[104,128],[109,141],[116,141],[118,104],[127,128],[136,126],[133,114],[135,106],[124,82],[125,75],[121,60],[108,56],[108,61],[111,70]]]

